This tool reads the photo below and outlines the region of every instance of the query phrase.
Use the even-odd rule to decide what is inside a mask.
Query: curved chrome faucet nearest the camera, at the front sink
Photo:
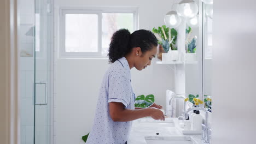
[[[205,111],[205,124],[202,124],[202,140],[204,143],[210,143],[212,130],[208,127],[208,111],[202,107],[190,107],[187,111],[184,112],[185,118],[188,118],[189,111],[193,110],[202,110]]]

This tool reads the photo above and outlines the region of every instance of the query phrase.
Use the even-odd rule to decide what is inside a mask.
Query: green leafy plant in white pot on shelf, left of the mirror
[[[177,61],[178,50],[176,46],[177,31],[165,25],[153,28],[152,32],[158,39],[158,58],[162,61]]]

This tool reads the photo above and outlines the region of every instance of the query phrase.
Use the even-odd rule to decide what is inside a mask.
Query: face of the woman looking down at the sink
[[[151,61],[155,57],[157,51],[158,51],[157,47],[153,46],[153,49],[151,49],[150,51],[146,51],[144,53],[140,51],[139,53],[137,53],[138,56],[136,57],[135,68],[137,70],[142,70],[147,68],[148,65],[151,64]]]

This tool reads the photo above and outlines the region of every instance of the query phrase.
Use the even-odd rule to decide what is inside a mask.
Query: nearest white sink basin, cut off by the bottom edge
[[[190,136],[146,136],[147,144],[195,144]]]

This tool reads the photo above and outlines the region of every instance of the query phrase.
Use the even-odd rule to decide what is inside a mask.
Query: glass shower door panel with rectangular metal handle
[[[34,81],[34,144],[50,144],[53,131],[53,87],[51,50],[53,50],[53,14],[51,1],[35,1],[35,81]]]

